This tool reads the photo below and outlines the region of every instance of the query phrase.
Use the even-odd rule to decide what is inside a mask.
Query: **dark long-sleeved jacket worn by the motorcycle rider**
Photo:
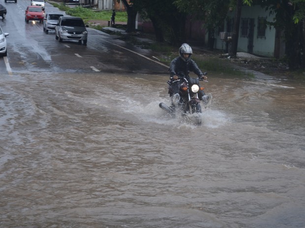
[[[178,75],[179,72],[183,72],[185,76],[188,76],[189,72],[194,72],[198,77],[203,76],[203,73],[194,60],[189,59],[185,62],[181,57],[172,60],[169,66],[169,72],[170,76]]]

